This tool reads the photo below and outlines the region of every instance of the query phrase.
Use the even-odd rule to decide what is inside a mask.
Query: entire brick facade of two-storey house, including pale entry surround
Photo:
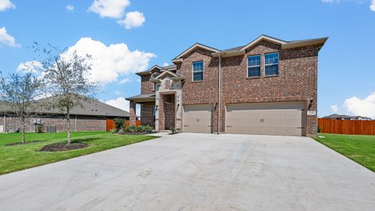
[[[322,46],[322,45],[321,45]],[[221,106],[220,132],[225,132],[225,110],[228,103],[267,103],[302,101],[305,103],[305,134],[317,133],[317,115],[307,115],[307,110],[317,110],[317,56],[318,44],[282,49],[278,41],[261,39],[245,49],[244,55],[221,59]],[[264,68],[265,53],[279,53],[279,75],[266,76]],[[237,54],[238,55],[238,54]],[[261,56],[260,77],[248,77],[248,56]],[[168,129],[172,122],[177,129],[182,127],[182,106],[191,104],[212,105],[212,131],[218,131],[218,89],[219,58],[212,56],[212,51],[197,46],[186,53],[182,61],[177,61],[176,74],[184,77],[179,87],[174,89],[171,79],[162,79],[160,90],[155,92],[155,102],[141,109],[141,119],[149,122],[152,117],[148,110],[152,105],[158,107],[156,130]],[[193,82],[192,63],[203,61],[203,81]],[[158,70],[157,70],[158,71]],[[141,94],[153,93],[151,75],[141,76]],[[165,104],[167,94],[174,94],[174,107]],[[131,103],[132,105],[132,103]],[[168,115],[167,110],[171,110]],[[172,111],[173,110],[173,111]],[[175,112],[174,112],[175,111]],[[131,106],[132,113],[132,106]],[[168,122],[170,121],[170,122]]]

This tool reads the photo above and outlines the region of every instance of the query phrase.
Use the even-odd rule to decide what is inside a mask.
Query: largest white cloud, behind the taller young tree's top
[[[146,70],[150,59],[155,57],[153,53],[130,51],[124,43],[106,46],[90,37],[82,37],[68,49],[68,53],[73,51],[79,56],[92,56],[91,79],[101,84],[115,82],[121,75]]]

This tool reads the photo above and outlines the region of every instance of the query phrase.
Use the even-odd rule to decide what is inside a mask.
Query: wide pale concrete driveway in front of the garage
[[[306,137],[177,134],[3,175],[0,206],[375,210],[375,174]]]

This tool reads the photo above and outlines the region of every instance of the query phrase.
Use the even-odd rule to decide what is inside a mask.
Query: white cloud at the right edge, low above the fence
[[[353,96],[344,101],[344,108],[353,115],[375,118],[375,91],[364,99]]]

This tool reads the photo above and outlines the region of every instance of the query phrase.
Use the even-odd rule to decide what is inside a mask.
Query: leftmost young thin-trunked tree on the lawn
[[[42,80],[34,77],[31,72],[26,72],[25,75],[15,73],[8,77],[2,75],[0,77],[0,100],[6,103],[8,112],[20,122],[23,143],[25,143],[25,125],[37,112],[35,98],[39,96],[41,88]]]

